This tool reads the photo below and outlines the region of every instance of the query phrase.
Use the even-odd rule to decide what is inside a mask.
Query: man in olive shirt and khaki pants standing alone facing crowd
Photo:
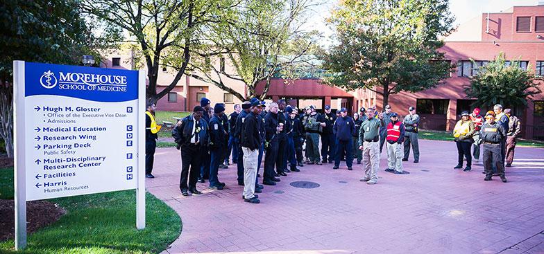
[[[384,125],[383,113],[374,117],[375,109],[366,109],[366,120],[359,130],[359,149],[363,150],[364,174],[360,181],[377,183],[377,170],[380,168],[380,127]]]

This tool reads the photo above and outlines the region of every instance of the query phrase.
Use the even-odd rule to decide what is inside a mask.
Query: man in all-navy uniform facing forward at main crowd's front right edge
[[[346,165],[348,170],[353,170],[353,141],[352,136],[355,134],[355,122],[348,116],[348,109],[345,107],[340,109],[340,116],[334,121],[332,130],[336,138],[334,147],[337,148],[337,154],[334,156],[334,167],[337,170],[340,166],[340,158],[342,154],[346,154]]]

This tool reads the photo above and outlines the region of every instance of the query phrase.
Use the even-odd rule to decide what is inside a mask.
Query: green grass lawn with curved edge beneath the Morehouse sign
[[[12,170],[0,169],[0,199],[12,198]],[[10,187],[11,186],[11,187]],[[13,240],[0,253],[159,253],[181,232],[181,219],[146,194],[146,229],[136,229],[135,190],[50,199],[67,210],[58,221],[28,235],[25,251]]]

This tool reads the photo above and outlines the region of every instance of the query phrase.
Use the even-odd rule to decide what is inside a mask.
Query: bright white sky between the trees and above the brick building
[[[333,30],[326,24],[325,19],[330,17],[330,10],[337,5],[339,0],[316,0],[323,4],[310,12],[305,29],[319,30],[323,33],[320,44],[328,46],[332,44]],[[543,1],[543,0],[541,0]],[[450,11],[456,17],[455,25],[481,15],[484,12],[501,12],[512,6],[536,6],[538,0],[450,0]]]

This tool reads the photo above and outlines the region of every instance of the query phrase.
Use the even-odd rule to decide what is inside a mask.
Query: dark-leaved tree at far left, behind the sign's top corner
[[[78,64],[100,43],[75,0],[0,3],[0,137],[13,156],[13,61]]]

